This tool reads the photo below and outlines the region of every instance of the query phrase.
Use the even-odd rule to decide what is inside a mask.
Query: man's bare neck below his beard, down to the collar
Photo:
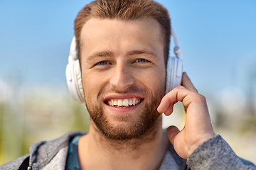
[[[81,169],[159,169],[168,147],[161,116],[142,137],[127,141],[108,139],[91,121],[90,132],[78,141],[78,154]]]

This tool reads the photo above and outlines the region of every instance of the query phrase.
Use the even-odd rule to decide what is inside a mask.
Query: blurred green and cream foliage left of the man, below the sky
[[[73,130],[88,132],[90,116],[85,104],[69,96],[56,101],[30,96],[22,103],[0,103],[0,165],[28,153],[41,140],[53,140]]]

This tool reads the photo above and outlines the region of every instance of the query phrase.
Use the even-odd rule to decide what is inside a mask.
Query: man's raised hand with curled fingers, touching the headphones
[[[183,130],[176,126],[167,128],[167,135],[177,154],[183,159],[196,147],[213,137],[213,127],[210,123],[206,98],[195,89],[188,75],[184,72],[182,77],[183,86],[177,86],[162,98],[157,111],[165,115],[171,115],[174,104],[178,101],[183,103],[186,110],[186,121]]]

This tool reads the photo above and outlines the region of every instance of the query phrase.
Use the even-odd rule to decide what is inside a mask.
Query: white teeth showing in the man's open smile
[[[128,108],[130,106],[135,106],[142,101],[142,98],[110,99],[106,101],[106,104],[117,108]]]

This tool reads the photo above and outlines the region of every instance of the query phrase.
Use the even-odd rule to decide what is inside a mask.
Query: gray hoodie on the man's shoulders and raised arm
[[[0,166],[2,169],[65,169],[69,141],[84,132],[69,132],[50,142],[37,142],[29,147],[29,154]],[[29,159],[29,163],[28,163]],[[26,162],[27,161],[27,162]],[[28,164],[26,164],[28,163]],[[20,167],[21,166],[21,167]],[[220,135],[204,142],[188,157],[182,159],[176,154],[173,145],[166,152],[160,170],[167,169],[255,169],[255,164],[240,159]]]

